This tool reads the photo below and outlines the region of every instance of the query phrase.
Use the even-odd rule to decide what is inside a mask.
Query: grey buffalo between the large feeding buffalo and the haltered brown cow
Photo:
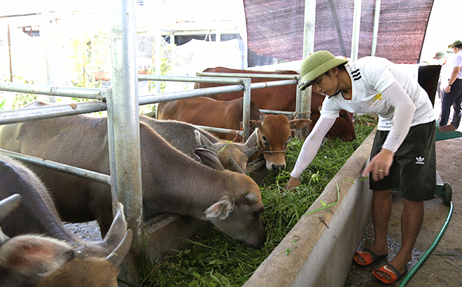
[[[246,170],[247,162],[257,151],[257,134],[252,134],[246,143],[239,144],[218,139],[213,134],[198,127],[177,120],[155,120],[148,116],[139,116],[139,120],[148,124],[169,144],[179,149],[190,158],[198,159],[195,154],[197,148],[211,148],[220,159],[224,169],[235,170],[230,164],[234,159],[242,170]]]

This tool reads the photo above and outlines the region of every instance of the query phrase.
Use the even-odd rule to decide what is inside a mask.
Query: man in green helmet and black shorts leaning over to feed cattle
[[[407,272],[407,263],[423,221],[423,200],[433,198],[436,186],[435,119],[428,94],[398,65],[380,57],[363,57],[346,64],[328,51],[303,60],[300,90],[309,85],[327,94],[321,117],[305,139],[285,188],[300,185],[298,179],[314,159],[325,133],[344,109],[379,116],[370,163],[374,244],[358,251],[354,260],[367,266],[386,258],[386,235],[391,216],[391,188],[400,186],[404,198],[402,245],[395,258],[373,272],[384,283],[393,283]],[[402,179],[402,180],[400,180]]]

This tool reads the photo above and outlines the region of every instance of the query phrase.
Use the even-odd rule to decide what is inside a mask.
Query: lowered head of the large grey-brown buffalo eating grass
[[[260,188],[245,174],[225,172],[233,178],[224,186],[228,193],[204,211],[204,219],[230,237],[244,241],[247,246],[260,248],[266,241]]]

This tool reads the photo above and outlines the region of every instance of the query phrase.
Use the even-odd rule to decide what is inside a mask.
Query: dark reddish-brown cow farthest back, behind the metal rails
[[[250,71],[250,70],[236,70],[223,68],[218,66],[216,68],[205,69],[204,72],[214,73],[272,73],[272,74],[289,74],[296,75],[296,71]],[[261,83],[277,79],[265,78],[252,78],[252,83]],[[217,87],[224,84],[215,83],[196,83],[195,88],[203,87]],[[279,87],[265,87],[264,89],[255,89],[251,91],[251,98],[259,109],[274,110],[274,111],[295,111],[295,101],[297,94],[297,85],[283,85]],[[224,94],[214,94],[209,97],[221,101],[230,101],[232,99],[239,99],[244,96],[244,92],[227,92]],[[311,91],[311,129],[316,125],[321,109],[321,104],[325,98],[324,94],[316,91]],[[351,141],[356,139],[356,133],[353,127],[353,114],[341,110],[339,118],[335,120],[334,125],[330,128],[326,137],[338,137],[342,141]]]

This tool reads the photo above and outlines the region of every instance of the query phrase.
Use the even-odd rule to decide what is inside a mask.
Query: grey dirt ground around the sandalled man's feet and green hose
[[[436,109],[435,105],[435,109]],[[462,129],[459,129],[462,131]],[[462,286],[462,137],[436,141],[437,173],[443,183],[450,183],[452,188],[453,211],[447,229],[440,241],[406,286]],[[400,247],[400,215],[403,207],[400,192],[393,193],[393,211],[388,224],[388,248],[391,260]],[[407,265],[409,270],[416,265],[439,234],[446,221],[449,207],[442,204],[442,197],[435,195],[433,200],[424,202],[425,215],[423,226],[414,247],[412,260]],[[370,246],[373,240],[372,223],[366,228],[360,246]],[[353,258],[352,258],[353,259]],[[346,286],[385,286],[372,276],[372,271],[386,260],[381,260],[368,267],[356,263],[351,265]],[[399,286],[400,281],[390,286]]]

